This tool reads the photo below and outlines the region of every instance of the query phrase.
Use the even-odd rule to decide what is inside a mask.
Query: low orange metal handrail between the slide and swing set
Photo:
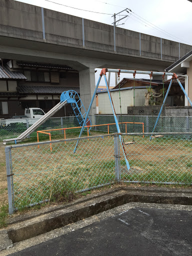
[[[126,133],[126,124],[127,124],[127,123],[138,123],[138,124],[140,123],[140,124],[142,124],[142,132],[144,133],[144,123],[143,123],[143,122],[119,122],[119,123],[125,123],[125,133]],[[87,136],[89,136],[89,134],[88,134],[88,133],[89,133],[89,132],[88,132],[89,127],[107,125],[107,132],[108,132],[108,134],[109,134],[109,125],[112,125],[112,124],[115,124],[115,122],[114,122],[114,123],[95,124],[95,125],[86,125],[86,126],[84,126],[84,127],[87,128]],[[48,133],[48,132],[45,132],[45,131],[64,130],[64,139],[65,139],[65,138],[66,138],[66,132],[65,132],[65,130],[66,130],[66,129],[76,129],[76,128],[82,128],[82,126],[68,127],[68,128],[59,128],[59,129],[48,129],[48,130],[37,130],[37,132],[36,132],[36,135],[37,135],[37,142],[39,142],[39,139],[38,139],[38,132],[48,134],[48,135],[49,135],[49,140],[51,141],[51,134]],[[142,135],[142,137],[144,138],[144,134]],[[66,144],[66,141],[65,141],[64,143]],[[38,145],[38,147],[39,147],[39,145]],[[52,151],[51,143],[50,143],[50,150]]]

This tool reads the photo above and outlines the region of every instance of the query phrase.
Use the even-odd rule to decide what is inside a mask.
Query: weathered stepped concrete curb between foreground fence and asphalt
[[[192,205],[191,189],[154,187],[117,188],[78,199],[64,206],[54,206],[29,215],[16,216],[9,220],[6,229],[0,231],[0,250],[14,243],[49,232],[70,223],[80,221],[117,206],[130,203],[163,203]]]

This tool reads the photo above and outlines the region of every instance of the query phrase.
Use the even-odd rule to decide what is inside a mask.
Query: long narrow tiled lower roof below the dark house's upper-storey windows
[[[74,90],[80,93],[79,87],[66,87],[59,85],[18,85],[17,91],[22,94],[61,94],[65,90]]]

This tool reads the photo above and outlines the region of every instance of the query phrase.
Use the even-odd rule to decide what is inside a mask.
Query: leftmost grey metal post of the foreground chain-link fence
[[[6,160],[6,179],[7,179],[7,191],[8,191],[8,213],[12,214],[13,213],[13,206],[12,206],[12,188],[11,188],[11,176],[12,173],[10,171],[10,150],[11,146],[6,146],[4,151],[5,151],[5,160]]]

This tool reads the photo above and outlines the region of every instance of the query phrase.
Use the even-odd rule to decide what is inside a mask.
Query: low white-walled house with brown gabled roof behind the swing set
[[[180,82],[184,85],[184,78],[179,77]],[[145,103],[145,92],[147,88],[151,87],[159,97],[153,97],[153,114],[157,114],[160,105],[163,101],[162,88],[164,91],[167,90],[170,80],[163,81],[155,79],[144,79],[144,78],[122,78],[119,84],[116,84],[110,89],[110,94],[113,100],[114,108],[117,114],[128,114],[132,115],[133,111],[135,115],[147,115],[152,114],[151,106],[144,107]],[[106,90],[97,91],[98,97],[98,113],[100,114],[112,114],[110,107],[110,101]],[[121,98],[121,109],[120,100]],[[133,106],[135,106],[133,108]],[[184,106],[184,93],[181,91],[180,86],[176,80],[173,80],[172,86],[169,90],[168,97],[165,102],[165,106]],[[154,110],[156,109],[156,110]]]

